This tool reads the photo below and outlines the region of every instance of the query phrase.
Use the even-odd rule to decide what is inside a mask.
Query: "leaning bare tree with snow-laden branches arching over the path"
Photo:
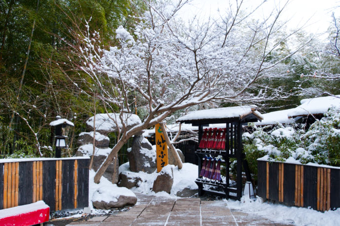
[[[86,73],[77,83],[91,95],[96,87],[106,107],[118,107],[122,125],[116,145],[95,176],[100,178],[120,148],[133,135],[162,122],[178,110],[203,103],[257,103],[282,97],[257,83],[263,77],[281,76],[278,68],[303,45],[273,59],[280,43],[289,42],[295,32],[281,32],[279,16],[284,6],[263,20],[243,11],[243,0],[230,3],[219,20],[183,23],[177,11],[188,0],[145,0],[148,10],[127,32],[116,30],[118,44],[104,48],[99,32],[84,32],[78,43],[70,44],[70,65]],[[77,34],[78,35],[78,34]],[[74,56],[74,55],[72,55]],[[74,62],[82,61],[76,65]],[[254,95],[256,90],[256,95]],[[143,122],[127,129],[127,117],[135,107],[146,111]],[[113,109],[110,109],[113,110]]]

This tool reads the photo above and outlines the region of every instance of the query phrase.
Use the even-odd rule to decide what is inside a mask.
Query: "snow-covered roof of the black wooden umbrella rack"
[[[238,107],[223,107],[206,109],[200,111],[192,111],[177,119],[177,122],[186,122],[192,120],[210,120],[210,119],[228,119],[240,118],[253,114],[258,119],[263,119],[263,116],[258,112],[254,106],[238,106]]]

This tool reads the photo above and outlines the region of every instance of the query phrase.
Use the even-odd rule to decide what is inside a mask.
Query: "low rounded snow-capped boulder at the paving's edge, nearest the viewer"
[[[92,204],[97,209],[121,208],[135,205],[136,194],[127,188],[103,186],[96,190],[92,196]]]

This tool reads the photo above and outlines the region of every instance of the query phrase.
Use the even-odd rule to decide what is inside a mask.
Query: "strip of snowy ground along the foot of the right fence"
[[[291,207],[268,202],[262,203],[259,197],[253,201],[247,196],[243,196],[241,201],[232,199],[224,199],[224,201],[230,209],[256,214],[282,224],[293,224],[297,226],[340,225],[340,208],[335,211],[322,213],[302,207]]]

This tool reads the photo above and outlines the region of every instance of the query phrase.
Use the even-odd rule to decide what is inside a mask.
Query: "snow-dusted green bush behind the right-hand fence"
[[[325,117],[307,131],[302,125],[277,124],[256,127],[243,133],[243,147],[252,172],[257,159],[268,155],[269,161],[286,161],[292,157],[301,163],[315,162],[340,166],[340,109],[329,109]]]

